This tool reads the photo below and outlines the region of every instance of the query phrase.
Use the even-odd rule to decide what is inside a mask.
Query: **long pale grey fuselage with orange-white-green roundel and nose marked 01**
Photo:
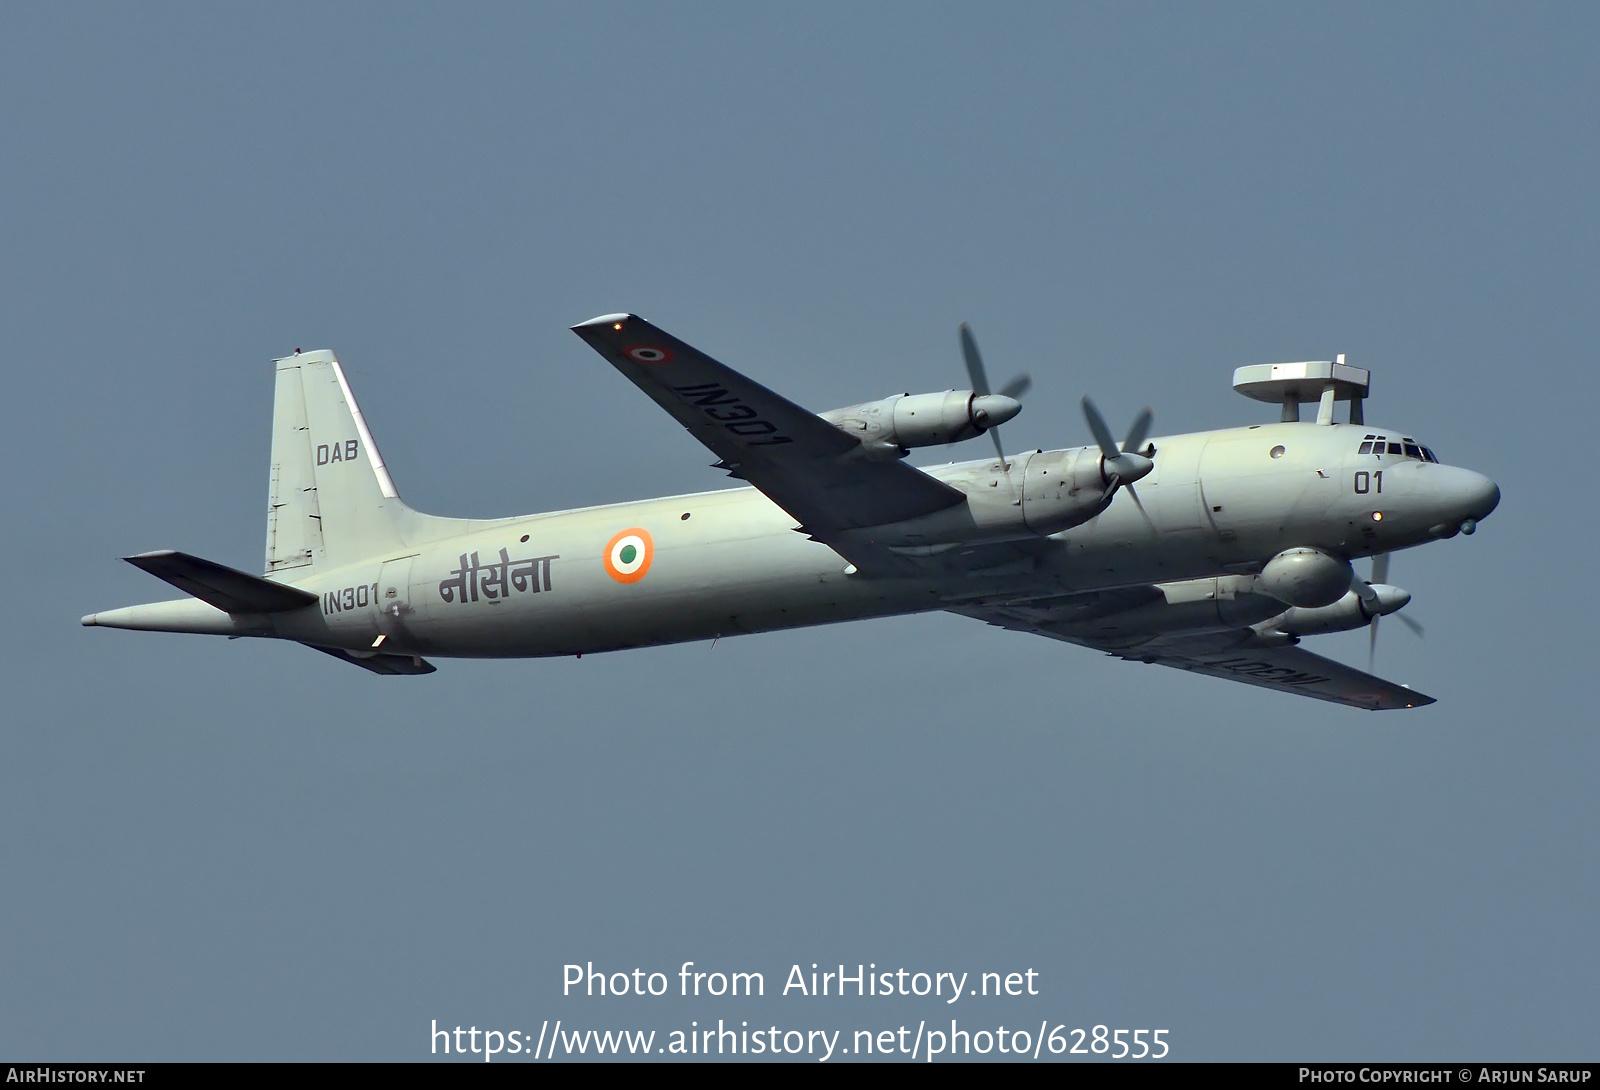
[[[358,563],[274,578],[318,603],[272,615],[224,613],[187,599],[94,615],[112,627],[301,640],[366,651],[518,658],[584,655],[720,635],[958,607],[1011,595],[1238,575],[1283,549],[1344,559],[1451,536],[1498,503],[1480,474],[1402,455],[1360,455],[1370,424],[1282,423],[1154,442],[1155,469],[1035,560],[958,578],[867,578],[755,488],[496,520]],[[1277,451],[1277,453],[1274,453]],[[1075,448],[1078,458],[1099,458]],[[1051,451],[1051,455],[1059,455]],[[1030,458],[926,467],[973,509],[1016,506]],[[1003,514],[1003,512],[1002,512]],[[1374,517],[1378,515],[1378,517]],[[643,573],[614,573],[606,547],[643,530]],[[962,547],[960,544],[950,547]],[[634,555],[634,562],[640,562]],[[504,563],[502,563],[504,560]],[[296,578],[299,576],[299,578]],[[626,579],[626,581],[624,581]],[[88,621],[88,618],[86,618]]]

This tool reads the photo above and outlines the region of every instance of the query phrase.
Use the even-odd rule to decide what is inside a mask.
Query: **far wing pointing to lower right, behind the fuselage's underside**
[[[1154,591],[1155,587],[1150,589]],[[1094,611],[1093,600],[1102,594],[1130,595],[1134,592],[1136,589],[1125,589],[1074,595],[1074,599],[1085,599],[1088,603],[1075,602],[1069,608],[1077,615],[1083,615],[1085,611]],[[1403,685],[1363,674],[1358,669],[1334,663],[1302,647],[1262,640],[1250,627],[1224,632],[1168,632],[1154,637],[1093,640],[1070,632],[1070,626],[1066,621],[1056,621],[1048,615],[1042,616],[1040,610],[1019,610],[1006,608],[1003,603],[984,603],[963,605],[950,611],[1000,627],[1048,635],[1050,639],[1077,643],[1078,647],[1091,647],[1131,663],[1174,666],[1195,674],[1275,688],[1280,693],[1291,693],[1294,696],[1312,696],[1334,704],[1346,704],[1347,707],[1389,711],[1422,707],[1424,704],[1435,703],[1432,696],[1424,696]],[[1062,611],[1066,613],[1066,610]]]

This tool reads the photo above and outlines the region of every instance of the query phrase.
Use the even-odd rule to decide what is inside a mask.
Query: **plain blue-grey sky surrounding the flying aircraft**
[[[499,1029],[958,1016],[1176,1058],[1594,1058],[1592,5],[8,5],[0,1055],[429,1055]],[[1008,445],[1370,419],[1494,477],[1395,557],[1370,715],[928,615],[373,677],[90,631],[261,563],[269,360],[333,347],[405,498],[714,488],[566,327],[816,410],[1037,389]],[[934,451],[938,455],[938,451]],[[957,456],[981,456],[976,445]],[[1323,637],[1365,663],[1365,634]],[[762,970],[752,1002],[560,967]],[[1040,972],[955,1008],[790,964]]]

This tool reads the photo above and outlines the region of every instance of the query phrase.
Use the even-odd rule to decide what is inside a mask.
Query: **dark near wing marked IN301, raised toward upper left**
[[[573,333],[818,541],[965,499],[915,466],[861,458],[851,435],[640,317],[606,314]]]

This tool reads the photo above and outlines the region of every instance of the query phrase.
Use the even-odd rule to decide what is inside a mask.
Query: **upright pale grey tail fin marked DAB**
[[[413,512],[400,503],[339,360],[323,351],[275,363],[267,575],[309,575],[400,546]]]

